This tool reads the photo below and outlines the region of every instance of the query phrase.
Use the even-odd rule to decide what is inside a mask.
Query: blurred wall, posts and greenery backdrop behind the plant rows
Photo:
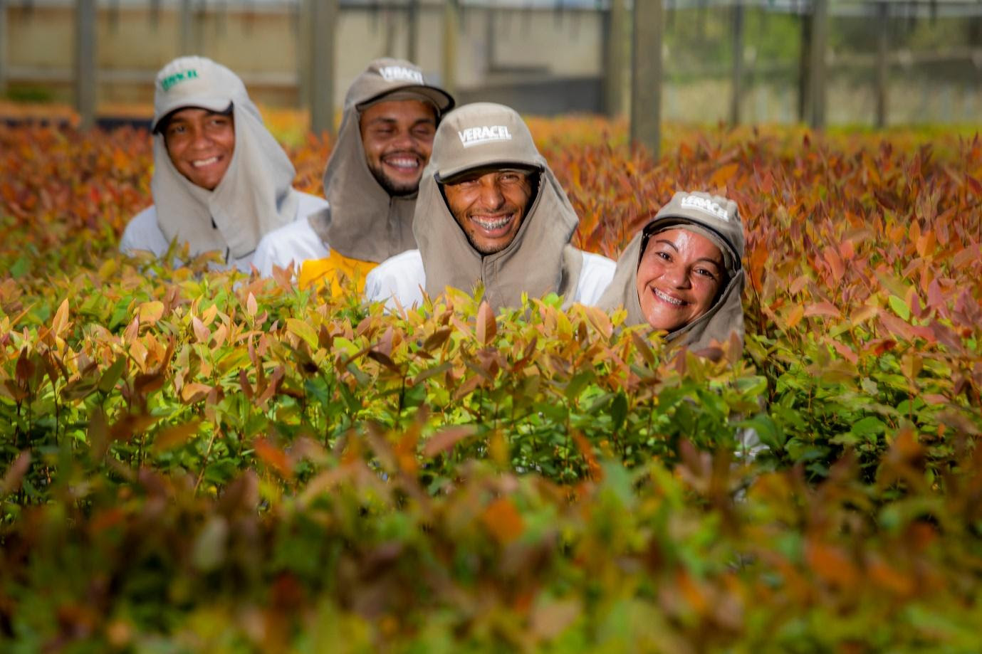
[[[156,71],[193,53],[269,107],[336,111],[388,55],[460,102],[617,117],[630,113],[632,61],[644,69],[659,50],[660,68],[633,77],[657,84],[645,101],[661,120],[982,116],[982,0],[0,0],[0,116],[63,103],[83,123],[146,120]]]

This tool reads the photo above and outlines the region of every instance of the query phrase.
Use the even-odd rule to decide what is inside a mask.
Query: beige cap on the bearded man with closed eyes
[[[442,88],[427,83],[418,66],[405,59],[383,57],[368,64],[352,82],[345,97],[345,109],[355,106],[360,111],[376,102],[410,99],[431,103],[438,115],[454,107],[454,98]]]

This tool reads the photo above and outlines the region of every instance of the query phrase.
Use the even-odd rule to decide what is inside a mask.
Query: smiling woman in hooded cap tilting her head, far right
[[[731,334],[742,342],[743,227],[736,202],[677,192],[627,245],[600,306],[627,309],[690,349]]]

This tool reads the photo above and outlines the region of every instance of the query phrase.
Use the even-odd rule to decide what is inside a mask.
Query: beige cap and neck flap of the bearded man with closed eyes
[[[417,66],[401,59],[376,59],[348,89],[338,140],[324,171],[330,206],[311,216],[310,225],[331,249],[362,261],[384,261],[416,246],[416,193],[389,195],[368,169],[361,144],[361,109],[390,95],[430,102],[438,121],[454,106],[448,93],[427,84]]]

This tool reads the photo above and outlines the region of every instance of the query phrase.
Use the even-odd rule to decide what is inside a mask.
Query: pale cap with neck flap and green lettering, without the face
[[[294,166],[263,126],[246,86],[229,69],[204,57],[182,57],[164,67],[157,75],[153,128],[176,109],[222,111],[230,104],[236,146],[214,191],[195,186],[179,173],[167,154],[164,136],[156,132],[153,136],[150,189],[157,223],[169,241],[190,244],[191,255],[217,249],[242,258],[264,234],[297,216],[300,200],[292,186]]]

